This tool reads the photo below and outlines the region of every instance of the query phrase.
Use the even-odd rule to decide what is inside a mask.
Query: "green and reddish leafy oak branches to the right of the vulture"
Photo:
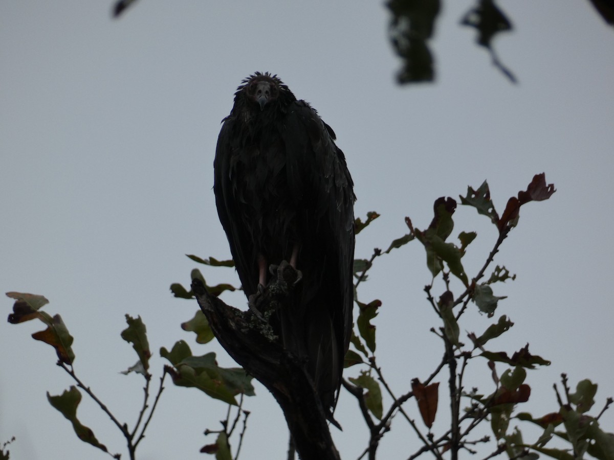
[[[459,243],[449,242],[448,239],[454,228],[453,215],[457,202],[448,197],[439,198],[434,204],[434,217],[425,230],[415,228],[409,218],[405,222],[409,228],[408,234],[394,240],[386,251],[376,248],[369,259],[359,259],[354,266],[356,277],[355,287],[367,279],[368,271],[376,258],[400,248],[411,240],[418,240],[424,245],[426,251],[427,267],[432,275],[431,282],[425,286],[427,302],[441,321],[440,328],[431,329],[442,342],[442,358],[435,366],[432,374],[424,380],[413,378],[411,388],[405,393],[398,393],[392,389],[391,384],[384,377],[384,372],[378,366],[376,358],[376,326],[371,320],[378,314],[381,307],[379,300],[361,302],[357,318],[357,334],[352,335],[353,350],[348,351],[346,367],[360,365],[360,375],[344,381],[344,387],[356,397],[362,416],[367,423],[370,439],[363,451],[363,458],[375,459],[379,442],[391,429],[395,416],[402,416],[410,424],[411,429],[422,444],[410,459],[417,458],[423,453],[430,452],[435,458],[442,459],[443,454],[449,451],[451,458],[458,458],[459,452],[467,451],[475,454],[475,446],[490,442],[490,437],[472,437],[472,432],[483,421],[489,421],[492,434],[496,440],[495,447],[486,458],[494,458],[507,453],[508,458],[537,458],[539,453],[557,459],[582,458],[585,453],[599,459],[614,458],[614,435],[607,434],[599,428],[597,420],[605,408],[611,404],[608,399],[604,409],[599,415],[586,414],[594,404],[593,396],[597,385],[589,380],[578,383],[575,393],[570,393],[567,386],[567,377],[563,376],[566,401],[558,397],[558,412],[549,413],[540,418],[533,418],[529,413],[516,413],[516,406],[529,401],[530,386],[525,383],[526,369],[536,366],[548,366],[549,361],[529,352],[529,344],[513,355],[508,356],[504,351],[491,351],[485,347],[487,343],[504,334],[513,326],[507,315],[502,315],[480,335],[475,332],[467,334],[467,345],[461,342],[459,323],[467,311],[468,305],[473,303],[480,312],[492,317],[499,301],[504,296],[495,296],[492,286],[495,283],[513,280],[515,275],[505,266],[496,266],[487,280],[484,280],[486,270],[491,266],[495,255],[513,229],[518,224],[520,207],[530,201],[543,201],[554,193],[553,185],[546,185],[545,175],[535,175],[527,190],[520,191],[518,196],[511,197],[502,215],[499,216],[490,198],[488,183],[484,182],[474,190],[468,188],[467,194],[461,196],[461,204],[475,208],[478,213],[486,215],[497,228],[497,240],[477,274],[469,278],[465,273],[462,259],[467,253],[468,245],[476,238],[475,232],[461,232]],[[365,228],[379,215],[368,213],[364,222],[357,221],[357,232]],[[433,283],[441,277],[445,291],[439,296],[433,294]],[[462,293],[454,296],[451,291],[453,279],[460,283]],[[464,384],[465,372],[470,362],[486,362],[490,369],[494,391],[481,394],[477,388],[467,389]],[[486,360],[486,361],[484,361]],[[502,374],[498,374],[495,363],[507,367]],[[445,374],[448,371],[447,377]],[[449,396],[449,428],[440,434],[431,431],[435,416],[438,412],[440,381],[447,380],[447,393]],[[383,407],[383,396],[387,394],[392,403]],[[418,406],[422,423],[427,432],[418,426],[418,423],[408,415],[405,403],[414,399]],[[523,441],[521,431],[515,427],[510,431],[510,421],[516,418],[519,421],[531,421],[542,427],[543,434],[534,443]],[[564,431],[556,431],[561,425]],[[554,436],[569,442],[569,448],[547,448]],[[360,459],[359,458],[359,459]]]

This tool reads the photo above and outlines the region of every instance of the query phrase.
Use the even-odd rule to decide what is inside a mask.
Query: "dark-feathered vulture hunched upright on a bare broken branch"
[[[217,140],[217,212],[248,298],[270,265],[300,270],[292,307],[270,323],[333,420],[352,328],[354,184],[335,132],[277,75],[241,83]]]

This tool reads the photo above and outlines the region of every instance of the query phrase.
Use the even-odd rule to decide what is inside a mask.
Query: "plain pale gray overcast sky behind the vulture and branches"
[[[425,228],[439,196],[457,198],[488,179],[502,212],[509,196],[546,172],[556,194],[523,207],[495,259],[518,278],[495,290],[508,296],[497,313],[515,326],[491,348],[511,353],[528,341],[553,361],[529,372],[523,410],[556,410],[551,387],[561,372],[573,386],[598,382],[604,404],[614,394],[612,28],[587,1],[502,1],[516,31],[495,45],[519,78],[514,86],[473,44],[473,31],[457,26],[470,4],[446,2],[438,21],[437,83],[400,88],[380,2],[144,0],[112,21],[111,0],[2,1],[0,290],[51,301],[45,311],[60,313],[74,336],[77,373],[129,424],[142,381],[119,374],[136,361],[119,337],[125,313],[147,324],[156,383],[166,364],[157,350],[179,339],[195,355],[218,351],[219,363],[231,366],[215,343],[198,346],[179,328],[197,306],[173,299],[168,286],[188,285],[196,264],[186,253],[230,256],[211,190],[220,120],[241,79],[271,71],[335,129],[356,183],[356,215],[382,213],[360,234],[359,258],[405,234],[405,216]],[[471,277],[497,235],[473,209],[459,207],[456,222],[454,236],[478,231],[465,256]],[[203,274],[238,284],[231,270]],[[424,250],[413,243],[380,259],[360,291],[365,301],[383,301],[379,364],[399,394],[411,378],[426,378],[442,353],[428,332],[438,325],[422,291],[429,281]],[[224,299],[245,305],[241,294]],[[5,315],[11,307],[7,298]],[[475,310],[461,323],[463,337],[493,321]],[[29,337],[41,326],[0,322],[0,442],[17,437],[15,459],[108,458],[79,442],[47,403],[45,391],[60,394],[72,381],[52,348]],[[492,391],[486,362],[475,360],[474,377]],[[281,410],[266,389],[256,391],[246,402],[252,415],[241,457],[284,458]],[[418,416],[413,401],[408,408]],[[435,429],[445,427],[445,410]],[[198,449],[214,437],[202,432],[217,429],[225,412],[168,382],[138,458],[203,458]],[[119,432],[85,397],[79,417],[111,451],[124,452]],[[343,458],[357,458],[367,429],[346,393],[336,417]],[[612,413],[602,426],[613,431]],[[380,456],[407,458],[418,441],[400,418],[392,427]]]

